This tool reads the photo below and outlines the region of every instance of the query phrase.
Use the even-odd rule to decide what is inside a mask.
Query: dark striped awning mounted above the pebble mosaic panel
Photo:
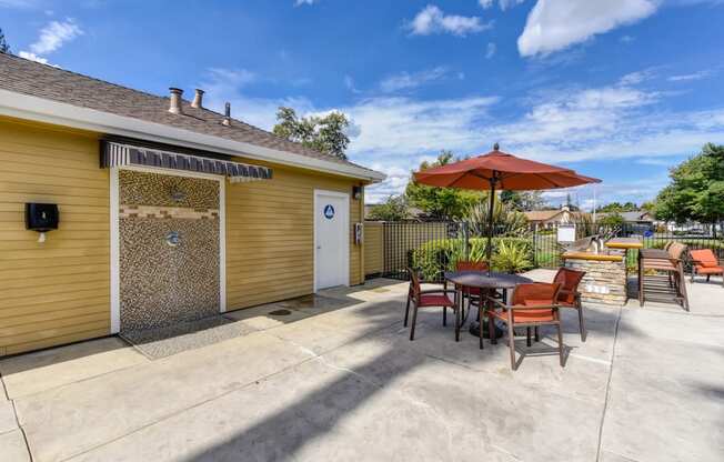
[[[220,174],[229,177],[233,182],[271,180],[272,178],[272,170],[267,167],[102,141],[101,168],[124,165]]]

